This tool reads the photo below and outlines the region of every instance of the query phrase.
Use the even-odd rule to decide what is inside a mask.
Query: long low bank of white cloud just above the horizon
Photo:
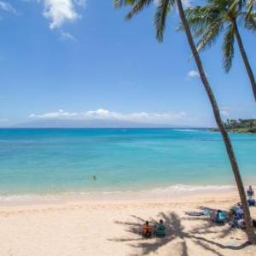
[[[29,115],[30,119],[112,119],[123,120],[132,122],[145,122],[145,123],[168,123],[173,120],[184,119],[187,116],[184,112],[168,112],[168,113],[118,113],[112,112],[108,109],[89,110],[84,113],[70,113],[60,109],[56,112]]]

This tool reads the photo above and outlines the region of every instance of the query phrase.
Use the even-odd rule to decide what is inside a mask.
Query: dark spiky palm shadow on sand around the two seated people
[[[166,237],[165,238],[152,238],[144,239],[138,235],[139,229],[141,228],[142,223],[144,222],[143,218],[137,216],[131,216],[134,218],[132,222],[121,222],[116,221],[116,224],[121,224],[125,226],[125,231],[132,234],[134,237],[131,238],[115,238],[109,239],[110,241],[119,241],[119,242],[130,242],[129,245],[133,248],[138,249],[140,253],[133,255],[147,255],[149,253],[157,253],[160,247],[163,247],[172,241],[179,239],[180,241],[180,254],[177,256],[188,256],[188,241],[192,241],[197,246],[202,248],[202,252],[210,251],[212,254],[218,256],[224,256],[223,253],[218,252],[218,248],[228,249],[228,250],[240,250],[244,247],[247,247],[249,244],[247,242],[242,243],[241,245],[224,245],[218,242],[219,239],[224,238],[232,232],[232,229],[229,225],[225,225],[222,231],[218,233],[211,230],[212,222],[209,218],[200,218],[203,224],[196,226],[195,229],[185,231],[182,219],[186,220],[198,220],[199,218],[179,218],[177,213],[170,212],[160,212],[158,217],[164,220],[166,225]],[[156,220],[154,218],[149,219],[151,224],[155,224]],[[204,237],[205,234],[216,234],[217,236],[214,239],[207,239]],[[132,254],[131,254],[132,255]]]

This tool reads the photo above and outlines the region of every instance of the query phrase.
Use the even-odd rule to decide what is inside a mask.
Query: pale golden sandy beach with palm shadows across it
[[[256,255],[241,230],[185,211],[229,209],[236,192],[185,198],[2,204],[0,255]],[[251,208],[256,218],[256,208]],[[166,238],[142,239],[145,219],[162,218]]]

